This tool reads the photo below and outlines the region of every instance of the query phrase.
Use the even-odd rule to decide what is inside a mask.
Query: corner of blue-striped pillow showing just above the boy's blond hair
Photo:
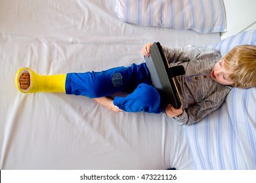
[[[256,29],[233,35],[216,44],[210,44],[207,47],[215,48],[216,50],[219,50],[222,56],[225,56],[232,48],[234,48],[234,46],[242,44],[256,45]]]

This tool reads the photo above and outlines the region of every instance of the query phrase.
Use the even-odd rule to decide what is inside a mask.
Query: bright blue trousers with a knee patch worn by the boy
[[[127,112],[160,113],[160,93],[152,86],[146,63],[116,67],[101,72],[68,73],[66,93],[90,98],[105,97],[116,92],[129,92],[115,97],[114,105]]]

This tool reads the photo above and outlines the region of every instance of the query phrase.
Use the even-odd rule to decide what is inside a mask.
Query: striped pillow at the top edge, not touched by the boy
[[[192,29],[199,33],[226,31],[222,0],[117,0],[116,14],[124,22],[144,26]]]

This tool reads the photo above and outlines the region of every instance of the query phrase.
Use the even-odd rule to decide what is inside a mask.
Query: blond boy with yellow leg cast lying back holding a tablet
[[[152,43],[142,48],[149,56]],[[167,48],[163,46],[169,65],[183,65],[186,74],[177,76],[177,87],[182,107],[168,105],[165,112],[180,125],[199,122],[217,110],[232,86],[250,88],[256,86],[256,46],[236,46],[221,58],[211,48]],[[161,98],[152,86],[146,63],[131,67],[116,67],[102,72],[68,73],[39,76],[31,69],[22,68],[16,75],[18,90],[33,92],[66,92],[84,95],[116,112],[160,113]],[[126,97],[110,99],[116,92],[129,92]]]

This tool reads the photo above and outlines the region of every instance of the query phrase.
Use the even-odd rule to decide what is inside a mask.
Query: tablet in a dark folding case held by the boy
[[[160,42],[152,44],[150,56],[144,56],[144,59],[150,71],[152,84],[160,92],[162,108],[165,108],[168,104],[180,108],[182,101],[173,77],[184,75],[184,67],[182,65],[169,67]]]

